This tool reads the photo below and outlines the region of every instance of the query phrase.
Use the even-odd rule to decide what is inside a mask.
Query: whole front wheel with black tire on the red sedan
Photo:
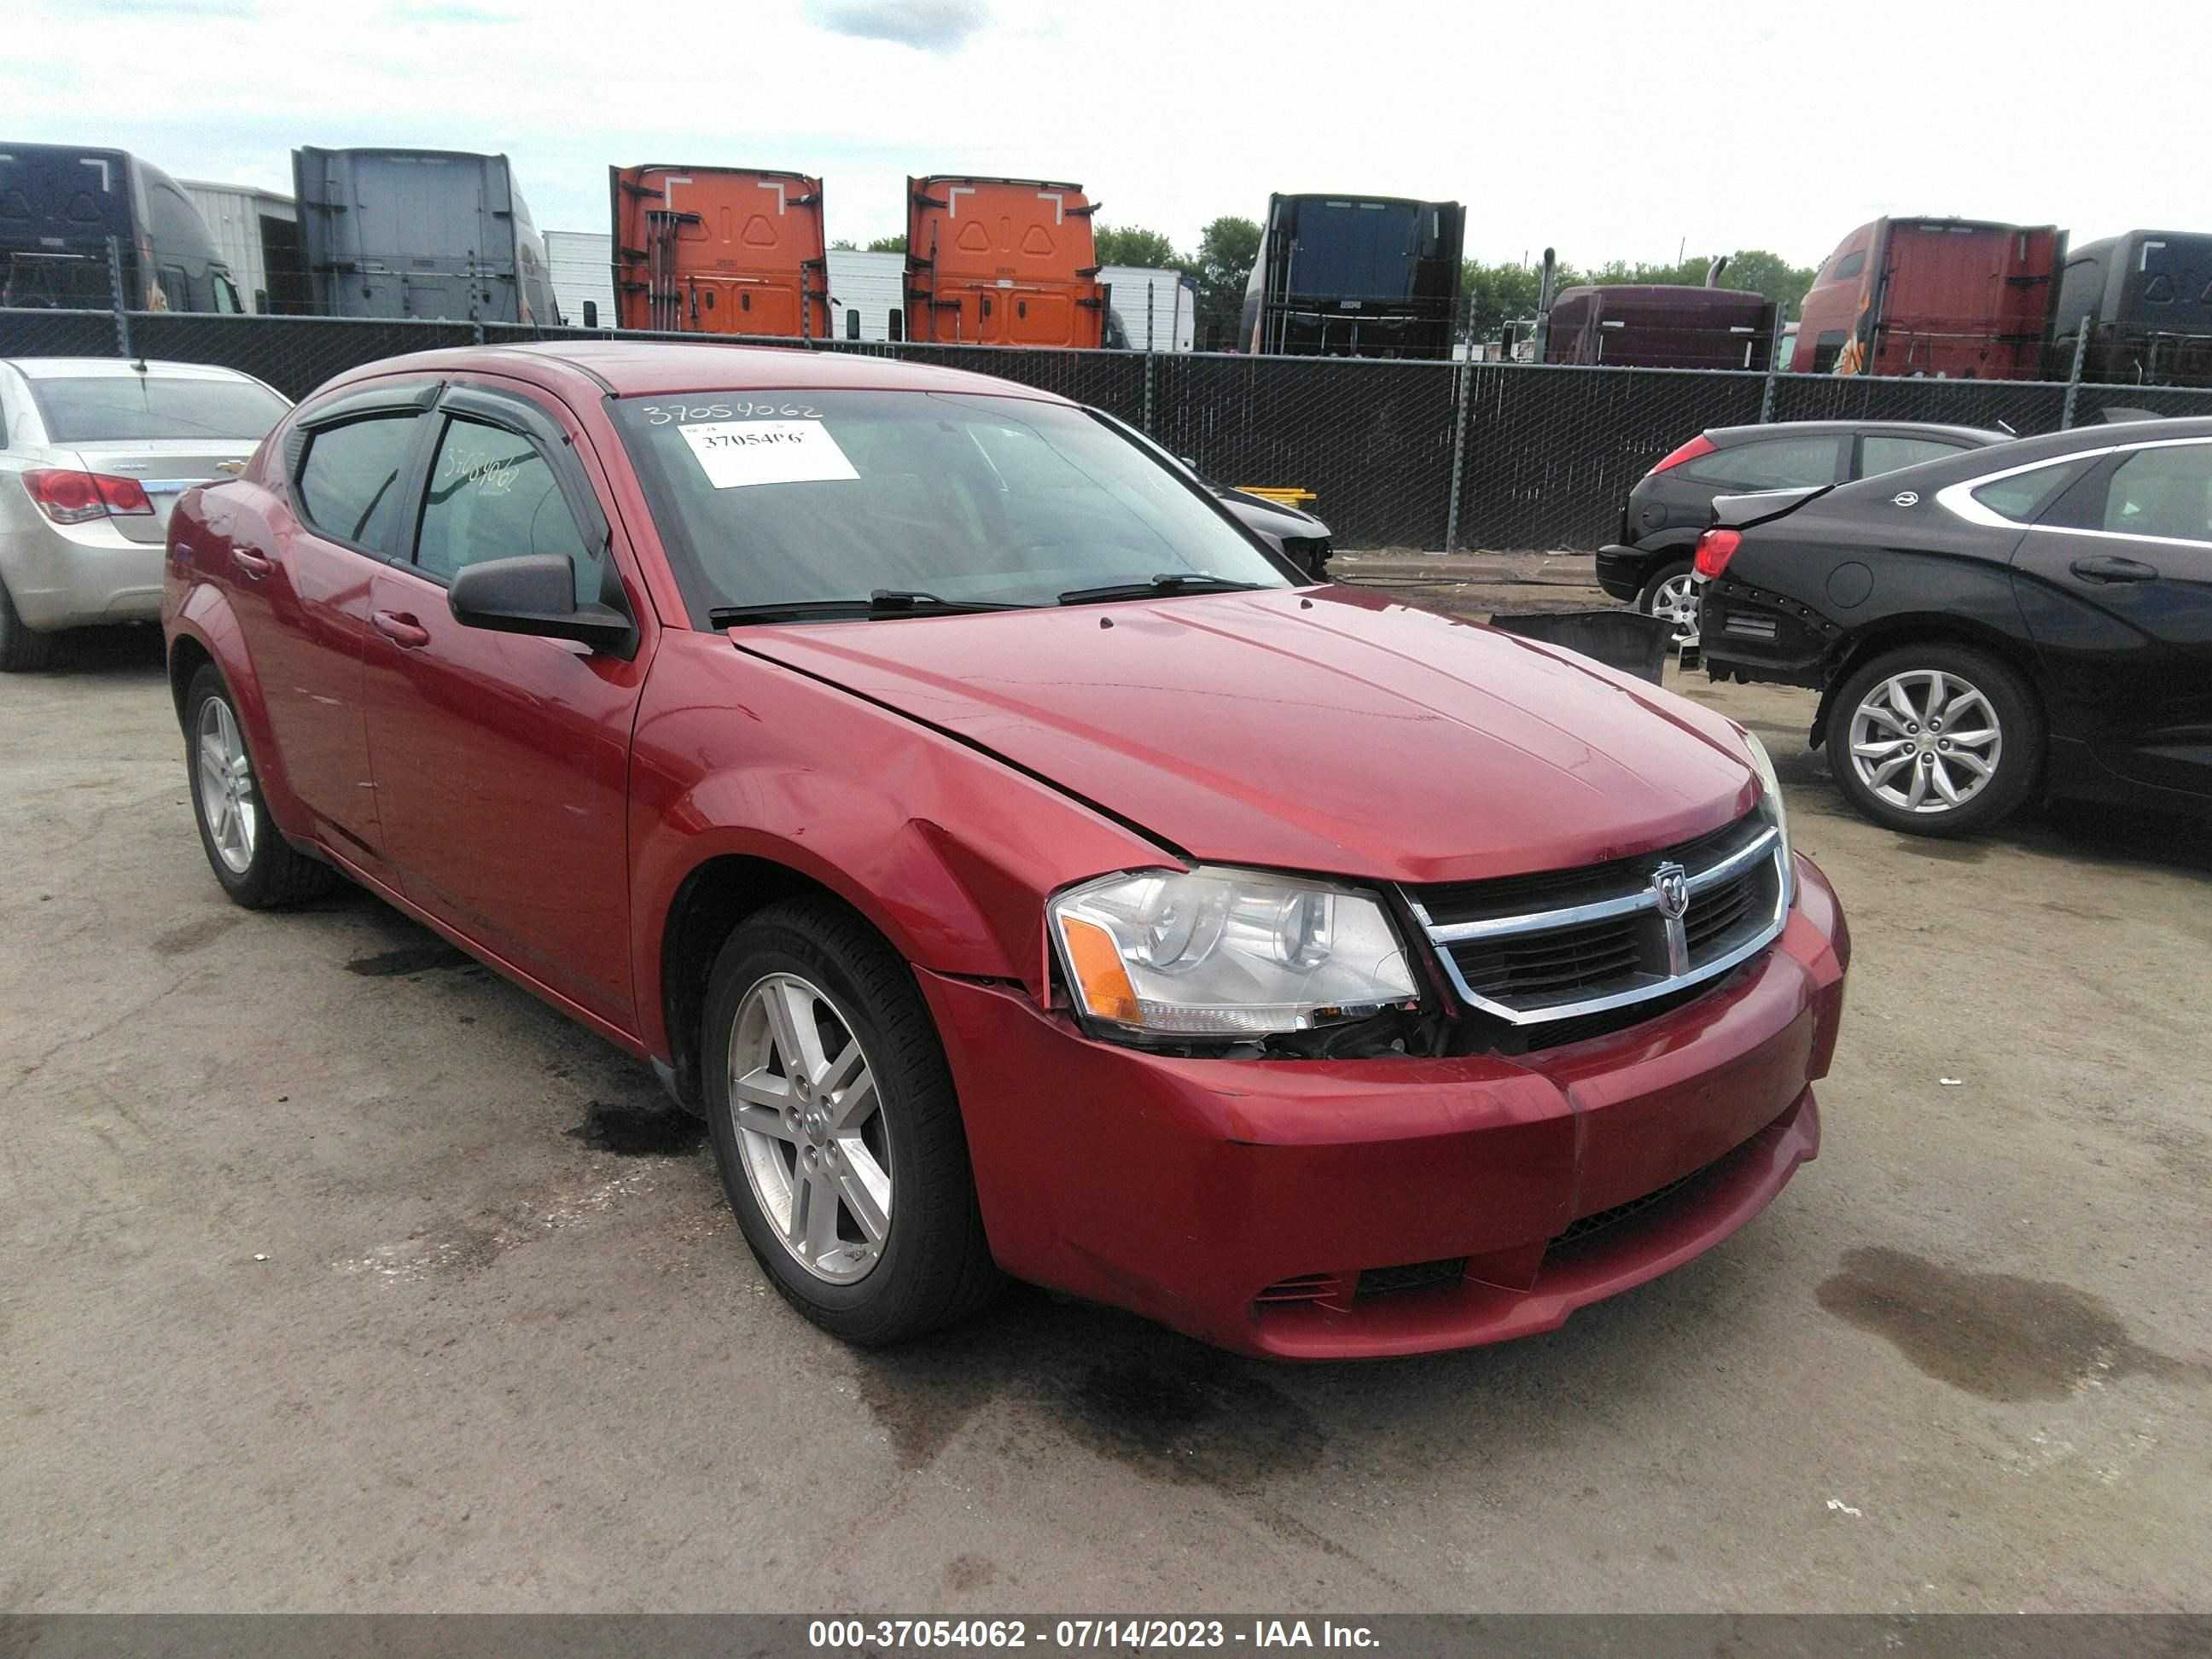
[[[787,1066],[785,1048],[807,1046],[801,1020],[821,1062]],[[827,898],[748,918],[714,960],[699,1053],[721,1188],[792,1307],[832,1336],[880,1347],[989,1301],[1000,1274],[951,1068],[914,971],[865,920]],[[836,1115],[867,1099],[858,1079],[841,1084],[852,1064],[874,1082],[874,1106],[841,1126]],[[810,1066],[814,1082],[794,1086]],[[818,1203],[823,1192],[836,1201]],[[869,1206],[880,1228],[865,1219]]]

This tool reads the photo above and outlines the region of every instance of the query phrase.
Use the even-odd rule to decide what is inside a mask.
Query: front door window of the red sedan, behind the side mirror
[[[467,564],[557,553],[575,571],[577,604],[599,602],[602,566],[529,438],[482,420],[449,420],[429,469],[416,566],[451,582]]]

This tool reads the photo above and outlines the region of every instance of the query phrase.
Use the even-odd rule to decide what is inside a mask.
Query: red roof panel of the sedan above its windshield
[[[1000,380],[993,374],[942,369],[933,363],[900,363],[887,356],[805,345],[679,345],[672,341],[460,345],[365,363],[332,385],[425,369],[509,374],[549,389],[566,385],[571,392],[580,392],[582,387],[575,383],[584,380],[617,398],[677,392],[969,392],[1071,403],[1053,392]]]

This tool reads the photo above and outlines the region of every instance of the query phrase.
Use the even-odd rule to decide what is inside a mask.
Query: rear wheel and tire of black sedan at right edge
[[[1947,726],[1975,741],[1953,745]],[[1933,639],[1900,646],[1838,688],[1827,710],[1827,770],[1885,830],[1971,836],[2035,790],[2044,717],[2026,681],[1986,653]],[[1902,783],[1907,776],[1916,783]]]

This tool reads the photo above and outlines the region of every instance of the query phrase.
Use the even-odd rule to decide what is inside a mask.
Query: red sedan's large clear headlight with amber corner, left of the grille
[[[1148,869],[1046,907],[1084,1015],[1155,1037],[1261,1037],[1411,1002],[1374,896],[1256,869]]]

